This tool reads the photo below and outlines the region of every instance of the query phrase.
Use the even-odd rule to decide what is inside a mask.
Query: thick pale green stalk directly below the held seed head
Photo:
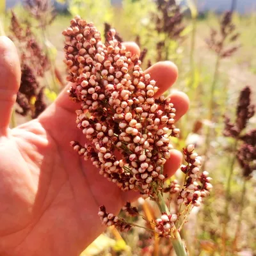
[[[159,199],[159,210],[161,212],[166,212],[166,214],[170,214],[170,211],[167,207],[167,205],[164,202],[164,198],[161,195],[161,193],[157,193],[158,199]],[[177,230],[177,228],[174,226],[175,230],[172,232],[172,246],[173,249],[175,250],[175,253],[177,256],[188,256],[188,253],[186,252],[186,248],[184,247],[184,244],[182,242],[182,239],[180,237],[180,233],[179,230]]]

